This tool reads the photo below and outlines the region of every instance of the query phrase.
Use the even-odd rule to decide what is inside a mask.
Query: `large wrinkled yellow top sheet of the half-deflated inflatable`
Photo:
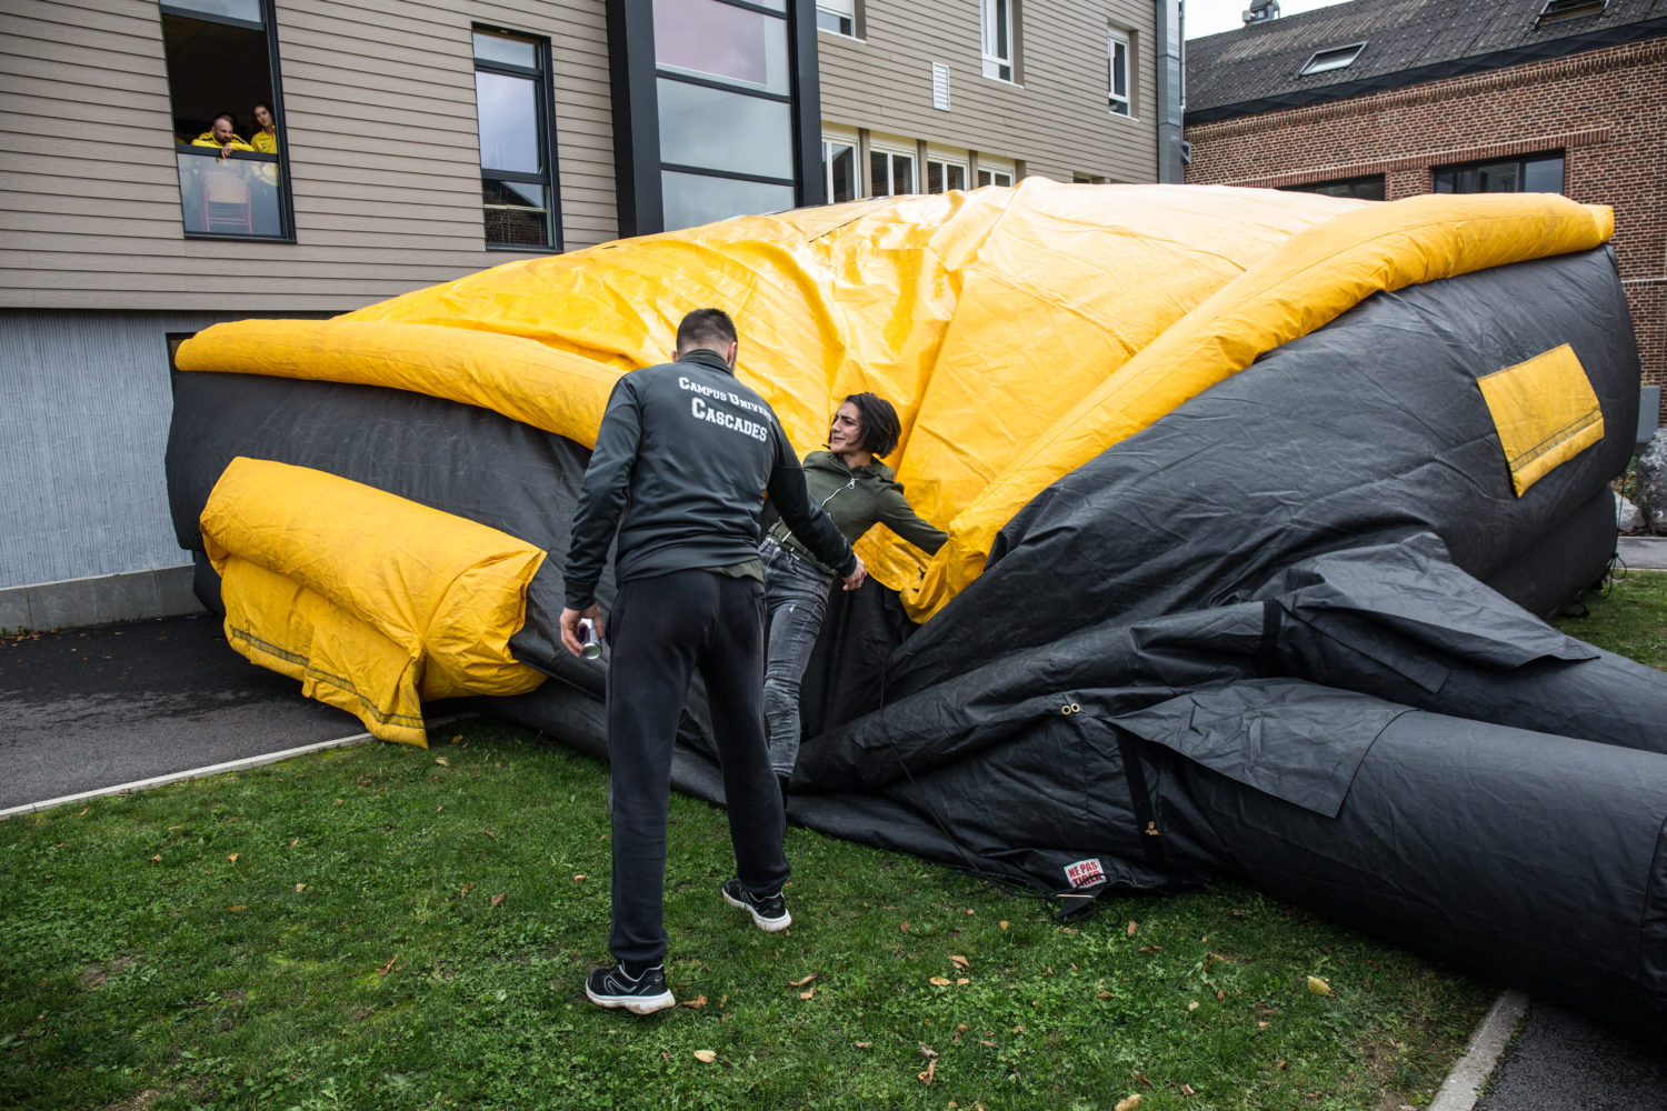
[[[870,573],[925,620],[1062,475],[1382,290],[1579,252],[1607,208],[1557,195],[1355,202],[1060,185],[740,217],[515,262],[328,321],[215,325],[182,370],[365,381],[595,443],[613,380],[728,310],[738,373],[810,450],[849,393],[897,405],[887,461],[950,541],[877,528]]]

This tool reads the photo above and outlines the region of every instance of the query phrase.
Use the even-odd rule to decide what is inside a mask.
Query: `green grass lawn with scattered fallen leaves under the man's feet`
[[[1667,575],[1589,605],[1667,663]],[[805,830],[763,934],[673,798],[682,1006],[603,1013],[605,768],[453,731],[0,823],[0,1106],[1397,1111],[1495,993],[1235,884],[1062,924]]]

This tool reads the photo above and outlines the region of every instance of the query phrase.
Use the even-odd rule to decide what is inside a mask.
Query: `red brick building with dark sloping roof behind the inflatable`
[[[1352,0],[1187,43],[1187,180],[1615,210],[1644,381],[1667,381],[1667,0]]]

